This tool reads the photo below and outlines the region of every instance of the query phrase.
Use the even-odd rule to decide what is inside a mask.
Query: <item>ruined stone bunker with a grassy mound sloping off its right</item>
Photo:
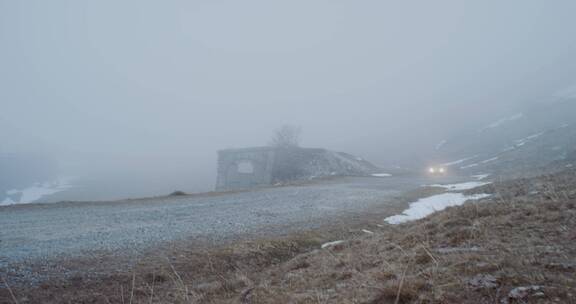
[[[360,157],[318,148],[254,147],[218,151],[216,191],[326,176],[368,176],[380,169]]]

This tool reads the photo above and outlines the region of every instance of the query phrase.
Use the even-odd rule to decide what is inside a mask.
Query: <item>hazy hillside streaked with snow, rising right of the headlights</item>
[[[567,90],[439,143],[435,159],[461,174],[531,174],[576,165],[576,93]],[[537,172],[538,171],[538,172]]]

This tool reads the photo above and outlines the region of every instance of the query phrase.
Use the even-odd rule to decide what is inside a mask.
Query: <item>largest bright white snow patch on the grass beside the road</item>
[[[476,194],[466,196],[462,193],[443,193],[420,199],[410,204],[402,214],[390,216],[384,221],[389,224],[401,224],[424,218],[434,212],[444,210],[451,206],[459,206],[468,200],[478,200],[490,196],[489,194]]]

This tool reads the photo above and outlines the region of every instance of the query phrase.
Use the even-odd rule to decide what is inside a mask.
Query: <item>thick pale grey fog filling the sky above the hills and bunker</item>
[[[403,164],[575,84],[575,11],[0,0],[0,152],[48,155],[122,195],[211,190],[218,149],[265,145],[286,123],[303,146]]]

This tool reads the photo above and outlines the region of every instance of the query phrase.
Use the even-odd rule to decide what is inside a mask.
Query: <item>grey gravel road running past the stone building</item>
[[[230,194],[0,207],[0,266],[91,251],[138,252],[187,238],[217,241],[275,227],[314,228],[386,206],[426,182],[345,178]]]

